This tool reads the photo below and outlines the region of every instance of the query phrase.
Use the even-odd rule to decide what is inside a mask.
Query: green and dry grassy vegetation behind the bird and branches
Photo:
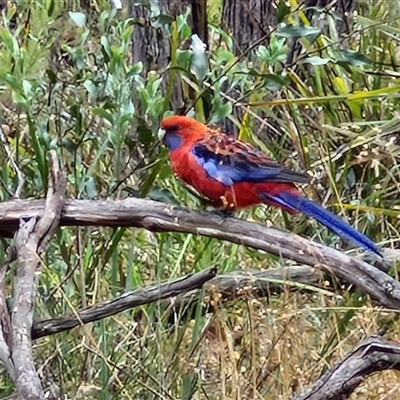
[[[209,0],[206,29],[189,2],[141,3],[117,12],[106,1],[25,0],[3,11],[1,201],[43,197],[56,149],[70,198],[200,208],[157,141],[164,115],[190,112],[310,171],[308,196],[399,247],[398,1]],[[190,48],[194,32],[209,62]],[[265,207],[239,216],[358,252],[301,216]],[[59,229],[45,261],[38,318],[213,265],[223,274],[290,264],[204,237],[95,227]],[[385,326],[400,341],[397,314],[348,286],[218,299],[215,313],[173,326],[152,304],[40,339],[44,385],[77,399],[287,399],[365,335]],[[352,398],[398,398],[397,375],[371,377]],[[0,395],[12,391],[2,372]]]

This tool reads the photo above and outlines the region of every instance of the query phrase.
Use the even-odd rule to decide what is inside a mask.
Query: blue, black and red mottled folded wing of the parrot
[[[307,183],[311,179],[308,174],[274,162],[251,144],[219,131],[209,130],[193,144],[191,152],[210,178],[227,186],[239,182]]]

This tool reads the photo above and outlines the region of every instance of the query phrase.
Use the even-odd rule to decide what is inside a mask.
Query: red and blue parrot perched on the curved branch
[[[251,143],[182,115],[163,118],[159,138],[169,150],[174,174],[215,208],[234,212],[266,204],[303,213],[381,256],[371,239],[303,195],[296,184],[309,183],[309,174],[277,163]]]

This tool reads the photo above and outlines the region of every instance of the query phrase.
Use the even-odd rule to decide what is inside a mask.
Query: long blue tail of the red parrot
[[[371,239],[356,231],[346,222],[342,221],[338,216],[325,210],[317,203],[314,203],[305,197],[297,196],[288,192],[274,196],[263,193],[261,196],[265,200],[272,200],[282,206],[295,211],[300,211],[309,217],[313,217],[340,237],[351,240],[364,249],[371,250],[375,254],[381,256],[377,245]]]

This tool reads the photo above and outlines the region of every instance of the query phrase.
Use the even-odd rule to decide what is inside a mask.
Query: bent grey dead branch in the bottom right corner
[[[400,346],[371,336],[326,372],[309,391],[292,400],[347,399],[368,375],[388,369],[400,371]]]

